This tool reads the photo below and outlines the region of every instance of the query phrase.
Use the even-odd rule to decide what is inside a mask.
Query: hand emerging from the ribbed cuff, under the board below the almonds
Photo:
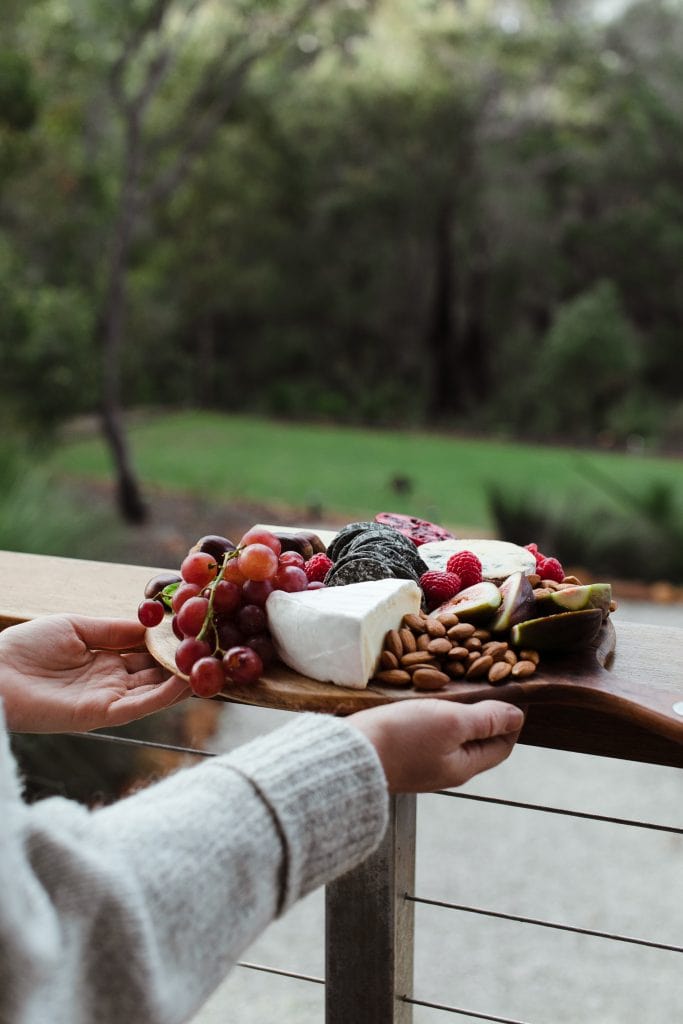
[[[511,753],[524,715],[502,700],[462,705],[421,698],[351,715],[370,739],[390,793],[433,793],[462,785]]]

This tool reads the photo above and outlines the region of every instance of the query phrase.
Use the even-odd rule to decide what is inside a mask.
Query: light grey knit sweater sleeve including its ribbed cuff
[[[110,808],[27,806],[0,708],[0,1022],[186,1021],[386,818],[374,749],[318,715]]]

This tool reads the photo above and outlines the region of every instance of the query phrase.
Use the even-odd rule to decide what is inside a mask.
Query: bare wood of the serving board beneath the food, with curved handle
[[[643,631],[644,646],[634,630]],[[651,631],[652,628],[649,628]],[[661,634],[661,629],[655,631]],[[683,631],[674,630],[683,637]],[[683,678],[671,663],[653,656],[648,627],[627,629],[628,660],[620,658],[621,644],[610,620],[601,630],[595,647],[571,655],[547,655],[533,676],[519,682],[492,686],[486,682],[453,682],[429,693],[413,688],[379,686],[355,690],[321,683],[275,666],[253,685],[230,686],[219,699],[282,711],[312,711],[350,715],[365,708],[396,700],[436,697],[473,703],[494,698],[510,703],[571,706],[596,711],[637,725],[649,732],[683,743]],[[147,630],[147,648],[165,668],[177,672],[175,649],[178,641],[166,618]],[[676,710],[678,709],[678,710]]]

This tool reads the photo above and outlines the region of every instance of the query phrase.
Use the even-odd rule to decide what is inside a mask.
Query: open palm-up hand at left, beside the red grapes
[[[150,654],[144,627],[123,618],[46,615],[0,633],[0,697],[14,732],[125,725],[189,694]]]

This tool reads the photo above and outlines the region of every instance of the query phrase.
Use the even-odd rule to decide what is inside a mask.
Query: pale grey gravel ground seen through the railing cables
[[[623,621],[683,626],[681,605],[620,604]],[[217,749],[287,721],[225,706]],[[675,769],[518,746],[461,792],[683,826]],[[416,893],[612,934],[683,944],[683,836],[492,808],[418,801]],[[324,975],[324,899],[311,894],[244,959]],[[680,1020],[680,953],[418,905],[416,997],[530,1024]],[[322,985],[236,969],[194,1024],[322,1024]],[[415,1009],[415,1024],[454,1015]],[[353,1024],[353,1022],[349,1022]]]

